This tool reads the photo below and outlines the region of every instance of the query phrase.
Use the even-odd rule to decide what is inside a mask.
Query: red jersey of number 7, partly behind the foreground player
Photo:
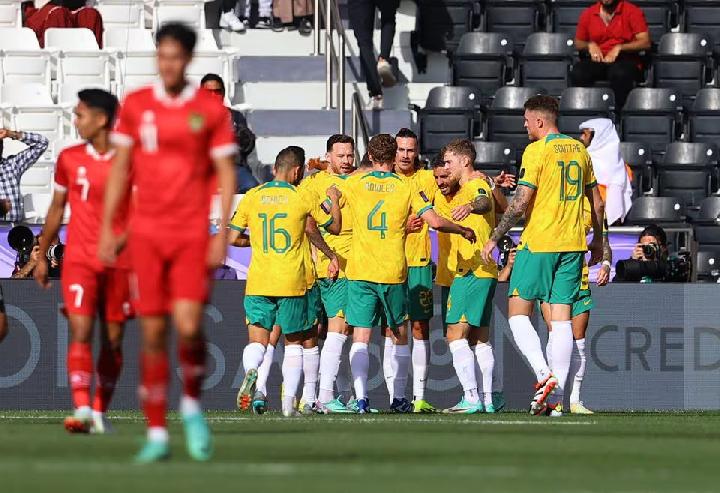
[[[98,259],[98,239],[102,225],[105,184],[114,152],[99,154],[90,144],[78,144],[64,149],[58,156],[55,169],[55,189],[67,192],[70,205],[70,224],[67,228],[65,263],[89,264],[103,268]],[[115,216],[116,233],[125,230],[127,204]],[[127,255],[120,255],[116,267],[129,267]]]

